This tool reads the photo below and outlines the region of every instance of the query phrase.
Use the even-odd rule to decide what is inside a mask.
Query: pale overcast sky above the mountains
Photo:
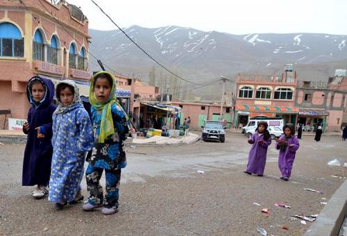
[[[347,35],[346,0],[94,0],[122,28],[175,25],[202,31],[248,33],[330,33]],[[90,28],[116,27],[90,0],[80,6]]]

